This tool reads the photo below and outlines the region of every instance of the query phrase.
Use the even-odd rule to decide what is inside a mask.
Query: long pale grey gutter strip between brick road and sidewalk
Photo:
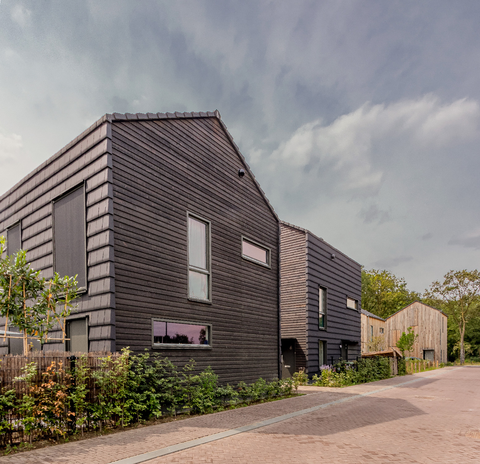
[[[460,369],[460,367],[457,367],[456,369]],[[419,382],[420,380],[424,380],[426,378],[434,377],[434,376],[437,376],[438,374],[443,374],[444,372],[452,372],[456,369],[450,369],[448,371],[437,372],[436,374],[432,374],[431,376],[419,377],[419,378],[415,378],[413,380],[408,380],[407,382],[402,382],[402,383],[399,383],[399,384],[396,384],[396,385],[389,385],[388,387],[383,387],[381,389],[368,391],[366,393],[360,393],[358,395],[349,396],[348,398],[342,398],[341,400],[330,401],[328,403],[319,404],[317,406],[312,406],[311,408],[301,409],[300,411],[295,411],[294,413],[283,414],[283,415],[279,415],[277,417],[272,417],[271,419],[265,419],[264,421],[261,421],[261,422],[255,422],[254,424],[249,424],[249,425],[241,426],[241,427],[237,427],[237,428],[231,428],[229,430],[214,433],[212,435],[207,435],[207,436],[202,437],[202,438],[197,438],[197,439],[194,439],[194,440],[184,441],[182,443],[177,443],[176,445],[167,446],[165,448],[160,448],[158,450],[148,451],[148,452],[142,453],[142,454],[137,454],[136,456],[132,456],[130,458],[120,459],[118,461],[112,461],[111,463],[108,463],[108,464],[113,464],[113,463],[115,463],[115,464],[139,464],[139,463],[143,463],[145,461],[149,461],[150,459],[165,456],[166,454],[171,454],[171,453],[175,453],[177,451],[187,450],[189,448],[193,448],[194,446],[204,445],[205,443],[210,443],[211,441],[216,441],[216,440],[219,440],[219,439],[222,439],[222,438],[231,437],[232,435],[237,435],[239,433],[248,432],[250,430],[254,430],[256,428],[260,428],[260,427],[264,427],[264,426],[269,426],[271,424],[276,424],[277,422],[282,422],[282,421],[285,421],[287,419],[291,419],[292,417],[296,417],[296,416],[299,416],[299,415],[312,413],[313,411],[318,411],[319,409],[324,409],[324,408],[327,408],[328,406],[333,406],[334,404],[340,404],[340,403],[344,403],[344,402],[347,402],[347,401],[357,400],[359,398],[363,398],[364,396],[373,395],[374,393],[379,393],[379,392],[384,391],[384,390],[394,389],[394,388],[397,388],[397,387],[401,387],[403,385],[408,385],[410,383]]]

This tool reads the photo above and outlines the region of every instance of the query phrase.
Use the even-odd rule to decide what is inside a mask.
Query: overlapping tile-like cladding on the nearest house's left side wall
[[[21,221],[27,261],[34,269],[42,270],[43,276],[50,277],[53,276],[51,201],[84,183],[88,289],[79,299],[78,313],[88,317],[90,351],[115,350],[113,253],[101,248],[108,241],[113,245],[111,166],[110,125],[97,121],[0,197],[0,235],[4,235],[6,227]],[[52,331],[49,335],[60,334]],[[6,353],[7,343],[0,340],[0,346],[0,353]],[[44,349],[64,350],[64,345],[48,343]]]

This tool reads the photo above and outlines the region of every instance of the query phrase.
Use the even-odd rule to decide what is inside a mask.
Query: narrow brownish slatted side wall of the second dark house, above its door
[[[297,339],[295,367],[306,367],[307,259],[306,234],[280,224],[282,339]]]

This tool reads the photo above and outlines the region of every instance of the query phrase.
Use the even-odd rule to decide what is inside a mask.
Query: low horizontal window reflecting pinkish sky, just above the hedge
[[[154,344],[208,345],[208,326],[153,321]]]

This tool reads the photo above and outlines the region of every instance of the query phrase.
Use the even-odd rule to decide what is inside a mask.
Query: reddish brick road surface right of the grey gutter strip
[[[464,367],[145,464],[478,464],[479,381]]]

